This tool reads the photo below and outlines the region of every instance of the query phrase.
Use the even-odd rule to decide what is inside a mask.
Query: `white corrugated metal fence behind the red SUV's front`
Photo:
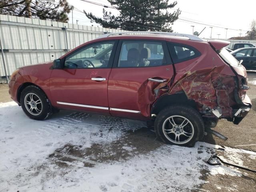
[[[51,61],[67,50],[93,40],[107,32],[122,32],[108,28],[53,22],[48,20],[0,15],[0,40],[6,60],[7,75],[25,65]],[[5,78],[0,55],[0,78]]]

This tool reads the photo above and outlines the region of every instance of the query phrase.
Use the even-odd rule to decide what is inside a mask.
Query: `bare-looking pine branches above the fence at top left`
[[[72,7],[67,0],[0,0],[0,14],[68,22]]]

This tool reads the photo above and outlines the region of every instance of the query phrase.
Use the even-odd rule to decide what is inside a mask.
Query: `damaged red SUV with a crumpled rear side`
[[[9,83],[32,119],[60,109],[154,120],[158,139],[192,146],[218,119],[251,108],[245,68],[230,42],[164,32],[105,34],[53,62],[24,66]],[[223,137],[223,136],[222,136]]]

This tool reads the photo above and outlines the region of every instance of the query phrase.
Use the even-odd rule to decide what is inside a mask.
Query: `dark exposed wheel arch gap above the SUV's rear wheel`
[[[188,105],[198,111],[196,108],[196,102],[194,100],[188,100],[188,97],[182,91],[172,95],[166,93],[160,96],[160,98],[158,98],[153,104],[151,114],[158,114],[162,109],[174,104]]]

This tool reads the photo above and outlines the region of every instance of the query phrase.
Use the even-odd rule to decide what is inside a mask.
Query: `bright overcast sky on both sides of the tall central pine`
[[[91,2],[98,2],[100,4],[110,5],[107,0],[90,0]],[[102,17],[102,6],[83,2],[81,0],[68,0],[73,5],[73,22],[82,25],[94,25],[100,26],[96,23],[91,23],[90,20],[80,11],[85,10],[86,12],[92,12],[98,17]],[[169,0],[173,2],[173,0]],[[178,4],[174,7],[175,9],[180,8],[181,15],[180,19],[173,24],[174,32],[192,34],[192,27],[194,31],[200,32],[204,27],[206,29],[200,34],[201,38],[210,38],[212,25],[212,38],[226,37],[240,35],[240,29],[242,29],[242,36],[245,36],[246,31],[249,29],[250,22],[252,19],[256,19],[256,0],[177,0]],[[118,15],[118,11],[111,8],[106,8],[115,15]],[[174,10],[170,9],[170,12]],[[70,21],[72,22],[72,14],[69,14]],[[193,22],[187,22],[184,20],[190,20],[202,24],[196,24]],[[222,28],[218,28],[222,27]],[[236,30],[231,30],[236,29]]]

